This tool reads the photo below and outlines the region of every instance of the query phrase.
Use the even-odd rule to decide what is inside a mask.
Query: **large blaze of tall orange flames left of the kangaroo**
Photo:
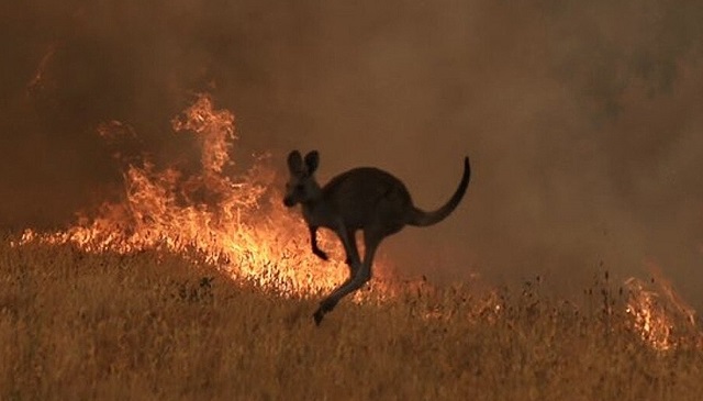
[[[87,252],[194,250],[236,279],[287,296],[328,291],[346,278],[345,257],[330,233],[320,238],[321,247],[331,252],[330,261],[310,252],[303,222],[281,204],[268,155],[255,156],[253,167],[236,177],[225,174],[234,166],[230,155],[237,140],[230,111],[215,110],[212,99],[202,94],[171,125],[176,134],[198,137],[198,174],[158,169],[144,157],[124,171],[123,201],[103,203],[96,218],[81,215],[65,231],[27,230],[21,243],[70,243]],[[101,125],[99,134],[107,141],[134,136],[120,122]]]

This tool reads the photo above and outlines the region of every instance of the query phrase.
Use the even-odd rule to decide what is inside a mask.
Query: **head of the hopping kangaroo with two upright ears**
[[[320,196],[320,185],[313,176],[319,164],[320,154],[317,151],[306,154],[304,161],[298,151],[293,151],[288,155],[290,178],[286,183],[283,204],[292,208],[298,203],[308,202]]]

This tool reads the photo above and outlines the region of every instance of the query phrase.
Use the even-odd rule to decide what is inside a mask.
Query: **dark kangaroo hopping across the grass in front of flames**
[[[383,170],[354,168],[321,187],[314,177],[319,165],[317,151],[308,153],[304,160],[300,152],[291,152],[288,155],[290,179],[283,198],[283,204],[288,208],[299,203],[302,205],[313,254],[327,260],[327,254],[317,246],[319,227],[334,231],[346,253],[349,277],[320,302],[313,314],[316,325],[339,300],[371,279],[373,254],[383,238],[398,233],[405,225],[427,226],[444,220],[464,198],[471,176],[469,158],[466,157],[464,176],[449,201],[433,212],[425,212],[413,205],[405,185]],[[359,257],[356,244],[355,234],[359,230],[364,232],[364,260]]]

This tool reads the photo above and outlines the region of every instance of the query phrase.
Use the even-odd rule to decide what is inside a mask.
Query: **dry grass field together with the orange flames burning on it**
[[[172,126],[198,138],[197,171],[131,159],[121,201],[0,241],[0,400],[703,393],[700,330],[662,278],[606,277],[584,309],[540,297],[538,282],[399,282],[381,261],[371,288],[315,328],[320,292],[347,271],[337,242],[321,238],[331,261],[312,255],[266,155],[234,168],[234,115],[208,96]],[[113,145],[135,135],[120,122],[99,134]]]

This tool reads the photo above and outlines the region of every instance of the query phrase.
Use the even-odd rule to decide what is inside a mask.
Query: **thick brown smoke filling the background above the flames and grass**
[[[62,226],[113,196],[114,152],[189,163],[170,118],[193,92],[233,110],[239,154],[321,152],[416,204],[473,177],[445,222],[381,248],[409,275],[571,291],[661,266],[703,305],[703,5],[693,0],[65,1],[1,15],[0,225]],[[409,250],[412,249],[412,250]],[[574,287],[576,286],[576,287]],[[698,297],[698,298],[696,298]]]

